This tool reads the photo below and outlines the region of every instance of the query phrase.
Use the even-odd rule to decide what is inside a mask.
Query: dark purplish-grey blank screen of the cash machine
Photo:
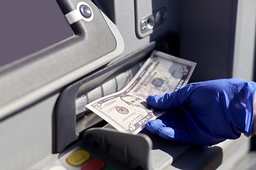
[[[0,67],[74,35],[53,0],[0,2]]]

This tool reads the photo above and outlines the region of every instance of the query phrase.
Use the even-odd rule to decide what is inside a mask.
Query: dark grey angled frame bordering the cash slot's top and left
[[[154,49],[154,46],[155,43],[151,42],[146,47],[132,53],[132,55],[124,57],[124,59],[104,69],[100,69],[100,71],[71,84],[63,90],[58,98],[53,115],[53,152],[62,152],[70,143],[78,140],[79,133],[76,132],[77,114],[75,105],[77,98],[113,79],[117,74],[138,64],[144,57],[149,55],[151,50]],[[91,121],[90,125],[87,125],[85,129],[101,120],[96,118],[95,122]]]

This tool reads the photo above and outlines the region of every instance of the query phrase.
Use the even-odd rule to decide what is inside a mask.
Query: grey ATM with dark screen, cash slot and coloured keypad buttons
[[[197,62],[193,81],[253,80],[254,0],[0,3],[0,169],[227,169],[250,149],[114,130],[85,108],[153,50]]]

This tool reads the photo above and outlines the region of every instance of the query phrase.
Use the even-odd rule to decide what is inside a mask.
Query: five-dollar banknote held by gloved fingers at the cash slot
[[[119,132],[137,134],[149,120],[166,113],[147,106],[146,98],[176,91],[188,83],[195,67],[195,62],[154,50],[124,89],[86,107]]]

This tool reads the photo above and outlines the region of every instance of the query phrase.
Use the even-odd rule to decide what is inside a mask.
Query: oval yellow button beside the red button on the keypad
[[[68,162],[68,164],[73,165],[73,166],[80,166],[81,164],[86,162],[88,159],[90,159],[89,152],[86,152],[84,150],[79,150],[79,151],[71,154],[68,157],[67,162]]]

